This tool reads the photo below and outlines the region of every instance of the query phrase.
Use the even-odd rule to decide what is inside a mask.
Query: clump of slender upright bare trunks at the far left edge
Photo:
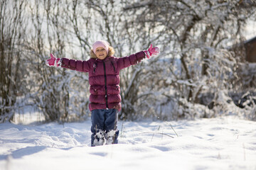
[[[26,92],[25,8],[26,1],[0,2],[0,123],[13,120],[18,96]]]

